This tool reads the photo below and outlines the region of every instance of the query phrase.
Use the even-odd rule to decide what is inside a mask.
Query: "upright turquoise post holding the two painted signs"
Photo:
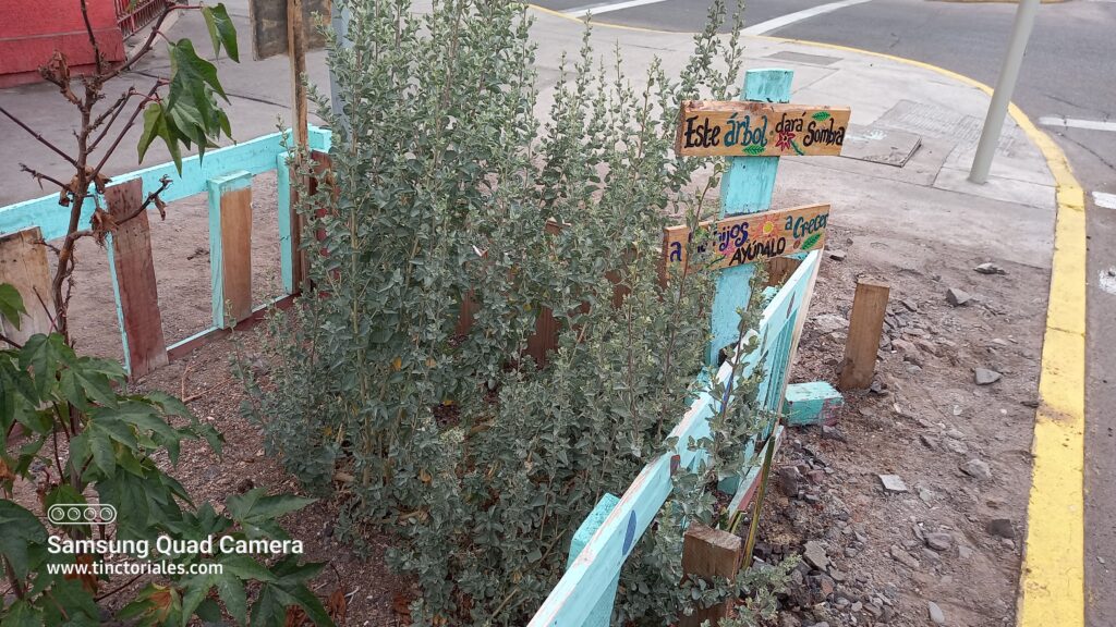
[[[789,69],[753,69],[744,74],[743,100],[787,103],[795,73]],[[721,179],[721,218],[759,213],[771,209],[771,192],[779,170],[779,157],[728,157]],[[751,266],[721,270],[713,297],[712,335],[706,361],[716,364],[722,347],[737,338],[740,317],[737,309],[748,305]]]

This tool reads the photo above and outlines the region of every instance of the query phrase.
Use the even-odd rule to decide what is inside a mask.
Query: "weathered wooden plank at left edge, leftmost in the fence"
[[[19,344],[26,343],[36,334],[49,334],[54,330],[51,316],[55,300],[50,296],[50,264],[47,263],[46,247],[36,243],[41,240],[38,228],[0,235],[0,283],[9,283],[16,288],[27,309],[18,329],[3,320],[0,320],[0,329],[4,336]]]

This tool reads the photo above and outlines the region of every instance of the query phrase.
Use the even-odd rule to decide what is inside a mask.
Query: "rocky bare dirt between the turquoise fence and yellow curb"
[[[1046,272],[985,274],[994,260],[839,229],[828,245],[792,382],[836,384],[857,277],[886,280],[891,300],[872,389],[845,394],[835,427],[791,428],[772,471],[756,554],[814,559],[778,624],[1011,625]],[[951,288],[971,300],[951,305]],[[978,385],[975,368],[1000,378]]]

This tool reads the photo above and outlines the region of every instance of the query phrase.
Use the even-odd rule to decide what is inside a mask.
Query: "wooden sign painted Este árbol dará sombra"
[[[685,100],[679,114],[679,156],[839,155],[848,107]]]

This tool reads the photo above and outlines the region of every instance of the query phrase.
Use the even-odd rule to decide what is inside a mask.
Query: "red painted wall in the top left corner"
[[[88,0],[89,22],[109,61],[124,59],[114,0]],[[74,75],[93,69],[78,0],[0,0],[0,87],[41,80],[39,66],[61,50]]]

